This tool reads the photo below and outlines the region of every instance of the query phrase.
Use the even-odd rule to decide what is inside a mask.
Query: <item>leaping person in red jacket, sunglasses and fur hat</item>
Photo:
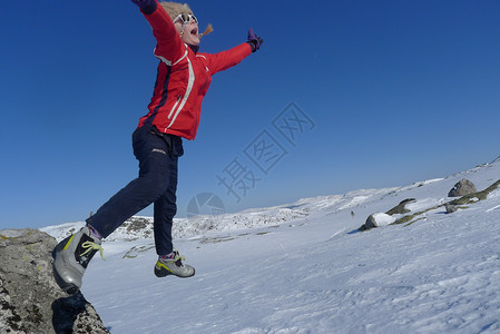
[[[99,250],[101,239],[126,219],[154,203],[154,235],[158,277],[190,277],[195,268],[183,264],[171,243],[171,224],[177,212],[177,161],[184,154],[183,139],[193,140],[199,124],[202,100],[212,76],[237,65],[259,49],[263,40],[248,30],[248,40],[233,49],[209,55],[198,52],[202,36],[198,20],[187,4],[131,0],[139,6],[153,28],[160,60],[148,112],[139,119],[133,135],[134,155],[139,160],[139,176],[119,190],[78,233],[53,249],[53,275],[69,294],[81,287],[88,263]]]

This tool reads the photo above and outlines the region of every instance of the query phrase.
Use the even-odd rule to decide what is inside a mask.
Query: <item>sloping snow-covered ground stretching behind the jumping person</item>
[[[439,205],[462,178],[486,189],[500,160],[399,188],[177,219],[176,247],[196,267],[186,279],[154,276],[149,227],[124,227],[104,243],[106,261],[92,259],[82,293],[114,334],[500,333],[500,190],[445,214]],[[421,213],[410,224],[357,232],[406,198]],[[81,224],[43,230],[61,239]]]

